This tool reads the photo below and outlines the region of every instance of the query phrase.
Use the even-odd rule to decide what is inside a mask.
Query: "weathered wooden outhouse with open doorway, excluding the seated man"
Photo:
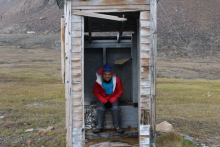
[[[140,147],[155,146],[157,1],[57,2],[64,8],[61,63],[66,146],[85,146],[86,121],[94,117],[87,111],[96,101],[95,73],[105,63],[122,79],[122,120],[133,116],[123,120],[124,127],[136,127]]]

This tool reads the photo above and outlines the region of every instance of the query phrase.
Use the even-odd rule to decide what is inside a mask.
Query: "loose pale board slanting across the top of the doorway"
[[[88,17],[109,19],[109,20],[115,20],[115,21],[127,21],[126,18],[119,18],[117,16],[98,14],[98,13],[92,13],[92,12],[73,11],[72,13],[75,15],[80,15],[80,16],[88,16]]]

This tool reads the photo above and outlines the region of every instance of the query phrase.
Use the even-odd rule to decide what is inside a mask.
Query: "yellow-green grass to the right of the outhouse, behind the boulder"
[[[220,80],[210,82],[220,91]],[[158,123],[166,120],[207,144],[220,142],[220,96],[207,80],[158,78],[157,92]]]

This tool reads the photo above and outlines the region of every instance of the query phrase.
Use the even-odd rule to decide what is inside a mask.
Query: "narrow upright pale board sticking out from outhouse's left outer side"
[[[65,19],[61,18],[61,77],[65,83]]]

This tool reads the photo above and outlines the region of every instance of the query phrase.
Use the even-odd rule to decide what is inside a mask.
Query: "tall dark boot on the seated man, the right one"
[[[120,109],[111,109],[113,126],[115,127],[116,132],[123,133],[124,130],[121,128],[121,110]]]

